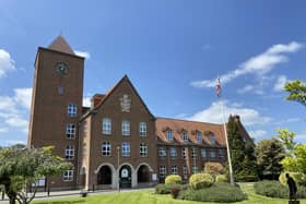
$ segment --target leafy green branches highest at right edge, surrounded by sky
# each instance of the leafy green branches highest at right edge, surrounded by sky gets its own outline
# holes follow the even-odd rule
[[[287,100],[297,101],[306,106],[306,85],[301,80],[295,80],[285,84],[285,92],[289,92]]]

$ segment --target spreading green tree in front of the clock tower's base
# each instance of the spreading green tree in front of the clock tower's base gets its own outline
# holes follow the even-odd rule
[[[71,168],[70,163],[52,154],[54,147],[0,151],[0,183],[5,185],[10,203],[30,203],[37,192],[36,182],[46,176],[56,176]],[[28,190],[32,189],[32,192]]]

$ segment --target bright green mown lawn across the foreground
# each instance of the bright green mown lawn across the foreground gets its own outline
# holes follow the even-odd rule
[[[248,194],[248,200],[237,202],[239,204],[287,204],[286,200],[270,199],[254,193],[252,187],[242,184],[244,192]],[[199,204],[200,202],[174,200],[170,195],[157,195],[154,191],[121,192],[104,195],[90,195],[87,197],[52,199],[49,201],[35,201],[35,204]],[[205,204],[216,204],[203,202]],[[306,204],[306,200],[301,201]]]

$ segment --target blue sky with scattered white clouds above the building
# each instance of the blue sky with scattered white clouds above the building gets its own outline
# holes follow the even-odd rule
[[[0,1],[0,145],[25,143],[37,47],[63,34],[86,56],[84,101],[128,74],[158,117],[221,122],[238,113],[258,142],[306,142],[305,107],[284,100],[306,76],[305,1]],[[81,52],[80,52],[81,51]]]

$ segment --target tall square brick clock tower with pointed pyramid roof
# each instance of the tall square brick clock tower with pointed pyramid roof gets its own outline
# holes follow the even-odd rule
[[[78,122],[82,116],[84,58],[76,56],[60,35],[39,47],[34,70],[28,146],[55,146],[55,154],[74,166],[46,183],[56,189],[75,188]]]

